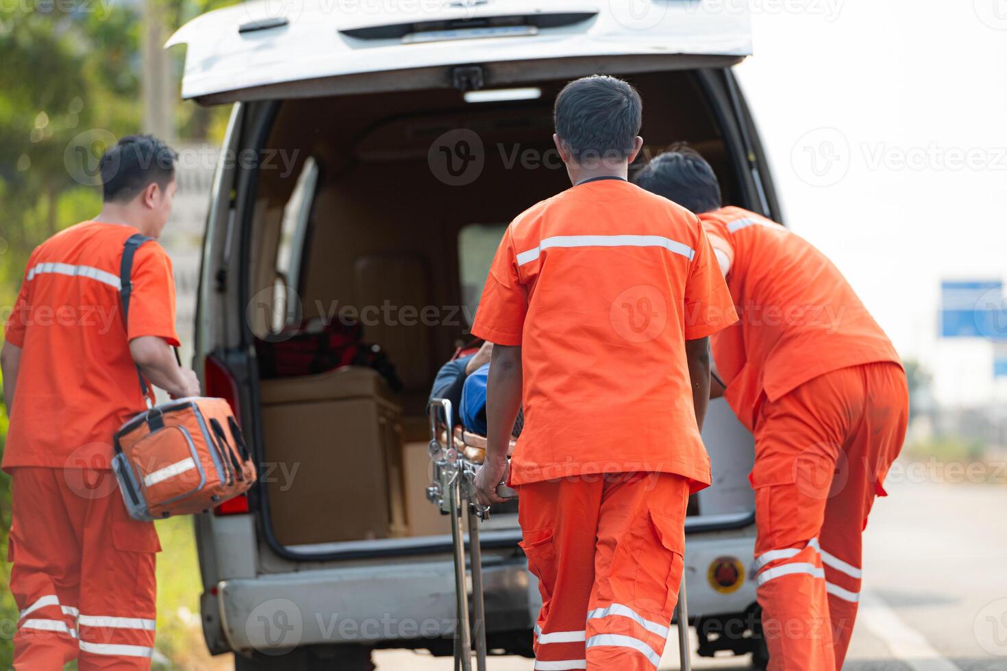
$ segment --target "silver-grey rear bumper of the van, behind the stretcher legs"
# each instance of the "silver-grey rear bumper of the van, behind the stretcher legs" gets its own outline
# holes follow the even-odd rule
[[[747,575],[753,543],[751,526],[690,534],[692,618],[742,613],[755,601]],[[718,591],[710,578],[710,567],[725,557],[743,567],[731,592]],[[541,600],[525,558],[487,552],[482,572],[487,630],[531,630]],[[217,600],[224,636],[236,651],[346,643],[397,647],[396,641],[418,647],[417,640],[455,631],[454,568],[443,556],[223,580]]]

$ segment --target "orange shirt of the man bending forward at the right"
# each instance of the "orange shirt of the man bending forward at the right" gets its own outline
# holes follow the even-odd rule
[[[775,400],[833,370],[901,360],[825,255],[780,224],[740,207],[700,214],[731,260],[727,286],[740,320],[711,339],[738,418],[754,430],[763,394]]]

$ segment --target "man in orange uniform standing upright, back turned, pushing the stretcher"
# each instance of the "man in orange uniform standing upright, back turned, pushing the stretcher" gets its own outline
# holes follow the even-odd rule
[[[656,669],[683,570],[689,493],[710,483],[700,439],[708,336],[736,320],[699,219],[626,181],[642,139],[625,81],[556,99],[573,187],[503,234],[472,333],[495,343],[478,497],[509,484],[539,579],[536,669]]]

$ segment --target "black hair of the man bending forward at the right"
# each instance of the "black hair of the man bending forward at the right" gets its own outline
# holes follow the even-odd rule
[[[633,183],[697,214],[720,207],[720,182],[700,153],[684,142],[643,166]]]

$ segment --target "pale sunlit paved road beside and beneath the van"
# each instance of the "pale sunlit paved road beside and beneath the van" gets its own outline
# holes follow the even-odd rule
[[[911,472],[908,471],[908,472]],[[1007,487],[888,483],[865,536],[864,594],[844,669],[1007,671]],[[662,669],[678,668],[673,631]],[[379,671],[449,671],[450,658],[375,654]],[[490,671],[530,671],[518,657]],[[748,669],[747,658],[696,669]]]

